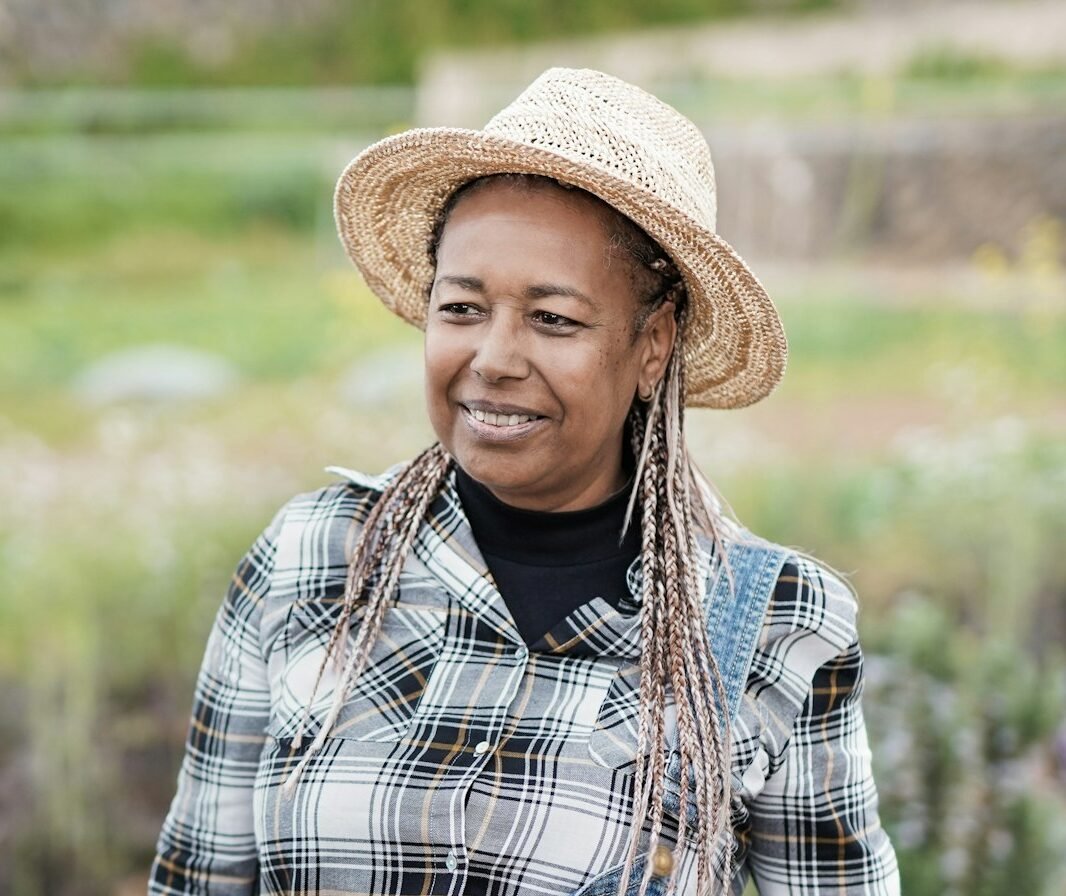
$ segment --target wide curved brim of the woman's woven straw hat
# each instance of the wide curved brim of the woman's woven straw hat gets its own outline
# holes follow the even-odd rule
[[[337,182],[334,213],[344,249],[395,314],[425,327],[434,222],[462,184],[503,173],[546,175],[586,190],[671,256],[691,303],[680,346],[687,405],[744,407],[774,390],[788,359],[785,330],[762,284],[728,243],[594,164],[484,131],[418,128],[386,137],[356,156]]]

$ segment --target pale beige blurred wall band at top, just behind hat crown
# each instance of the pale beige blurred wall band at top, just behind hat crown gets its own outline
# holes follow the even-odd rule
[[[884,74],[950,48],[1024,65],[1066,65],[1066,2],[865,3],[851,12],[744,19],[426,58],[420,125],[481,127],[553,65],[598,68],[653,93],[722,77]]]

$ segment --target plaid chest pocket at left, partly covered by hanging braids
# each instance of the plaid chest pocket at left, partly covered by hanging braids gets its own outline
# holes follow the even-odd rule
[[[330,737],[392,743],[402,740],[414,722],[443,645],[447,597],[433,583],[411,580],[401,582],[400,594],[400,601],[385,610],[369,661],[352,682]],[[339,597],[293,604],[284,647],[275,651],[276,662],[272,663],[269,733],[274,737],[295,735],[322,668],[339,607]],[[356,613],[361,618],[361,607]],[[353,622],[350,648],[359,624]],[[333,661],[322,672],[306,728],[309,737],[319,731],[333,705],[340,674]]]

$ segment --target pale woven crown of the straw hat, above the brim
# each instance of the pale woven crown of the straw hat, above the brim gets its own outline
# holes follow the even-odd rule
[[[610,75],[549,68],[484,131],[599,168],[716,229],[714,166],[699,129]]]

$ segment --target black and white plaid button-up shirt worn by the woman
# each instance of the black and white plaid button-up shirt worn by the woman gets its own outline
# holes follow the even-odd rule
[[[601,892],[588,884],[625,860],[633,822],[639,604],[594,598],[527,648],[454,476],[335,731],[282,796],[346,556],[383,485],[349,478],[293,499],[233,576],[149,892]],[[843,584],[790,556],[732,719],[733,893],[749,875],[764,896],[899,892],[877,817],[855,613]],[[335,684],[330,664],[305,748]],[[667,812],[663,841],[674,846],[676,834]],[[690,845],[677,892],[694,894],[695,876]]]

